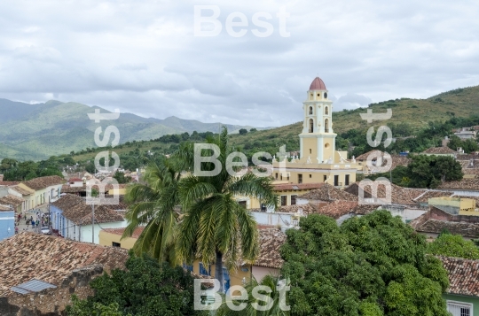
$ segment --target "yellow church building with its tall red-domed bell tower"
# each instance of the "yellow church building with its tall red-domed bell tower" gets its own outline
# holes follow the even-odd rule
[[[273,177],[290,183],[326,182],[344,188],[356,181],[356,161],[348,160],[347,151],[335,149],[333,102],[327,97],[325,83],[316,77],[302,103],[303,124],[300,157],[291,162],[286,157],[273,158]]]

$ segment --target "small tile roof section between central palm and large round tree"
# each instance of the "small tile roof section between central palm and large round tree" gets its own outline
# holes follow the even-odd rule
[[[281,268],[284,260],[281,258],[279,249],[286,243],[287,235],[278,228],[260,229],[259,233],[260,253],[254,266]]]

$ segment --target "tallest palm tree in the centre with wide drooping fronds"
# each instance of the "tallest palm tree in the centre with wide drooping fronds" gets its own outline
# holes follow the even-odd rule
[[[217,138],[207,143],[218,146],[217,160],[222,170],[214,176],[190,174],[179,184],[179,197],[184,217],[177,235],[177,256],[184,262],[201,258],[203,264],[216,264],[216,279],[224,291],[223,260],[229,270],[240,265],[240,258],[253,261],[258,254],[258,230],[255,218],[236,199],[238,196],[255,197],[264,204],[276,205],[271,178],[246,173],[234,176],[226,170],[226,158],[232,152],[228,145],[228,132],[224,128]],[[184,145],[177,153],[184,162],[183,170],[194,170],[192,144]],[[213,163],[206,170],[214,170]],[[209,168],[209,169],[208,169]]]

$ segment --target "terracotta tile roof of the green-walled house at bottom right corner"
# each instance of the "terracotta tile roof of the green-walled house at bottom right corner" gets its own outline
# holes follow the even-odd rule
[[[449,289],[446,293],[479,297],[479,260],[465,258],[438,258],[443,261],[444,269],[449,274]]]

